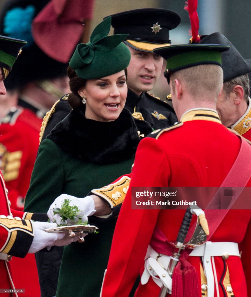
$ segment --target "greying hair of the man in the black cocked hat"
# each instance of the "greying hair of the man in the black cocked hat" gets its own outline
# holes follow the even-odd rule
[[[233,88],[237,85],[242,86],[244,90],[244,99],[248,103],[248,97],[249,97],[250,91],[249,91],[249,78],[247,74],[243,74],[229,81],[226,81],[223,84],[223,92],[225,93],[225,96],[229,97],[230,93],[233,91]]]

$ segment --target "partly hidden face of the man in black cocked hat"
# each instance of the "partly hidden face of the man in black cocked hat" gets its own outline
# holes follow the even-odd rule
[[[217,99],[216,110],[220,116],[220,120],[225,127],[231,127],[237,119],[235,118],[236,106],[234,104],[233,93],[229,96],[224,91],[221,92]]]

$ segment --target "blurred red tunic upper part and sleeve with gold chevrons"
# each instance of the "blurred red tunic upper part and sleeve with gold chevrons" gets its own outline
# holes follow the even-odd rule
[[[39,146],[40,129],[36,120],[31,110],[13,107],[0,124],[1,171],[11,207],[20,211],[23,211]]]

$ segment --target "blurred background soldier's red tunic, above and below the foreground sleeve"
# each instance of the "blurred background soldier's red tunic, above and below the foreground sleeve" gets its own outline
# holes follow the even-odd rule
[[[41,123],[42,120],[34,112],[22,107],[11,108],[1,119],[1,171],[12,209],[23,211],[39,146]],[[24,259],[12,257],[11,264],[15,286],[26,289],[22,296],[39,297],[40,285],[34,255],[28,254]],[[23,274],[23,267],[29,267],[29,274]]]

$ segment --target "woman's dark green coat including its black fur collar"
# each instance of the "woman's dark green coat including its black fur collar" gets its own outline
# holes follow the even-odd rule
[[[26,195],[26,211],[47,212],[61,194],[85,197],[92,189],[130,173],[140,138],[129,110],[124,109],[111,122],[86,119],[84,113],[83,107],[72,110],[42,141]],[[99,233],[65,247],[60,271],[57,247],[53,252],[37,253],[42,296],[100,296],[116,218],[94,221]]]

